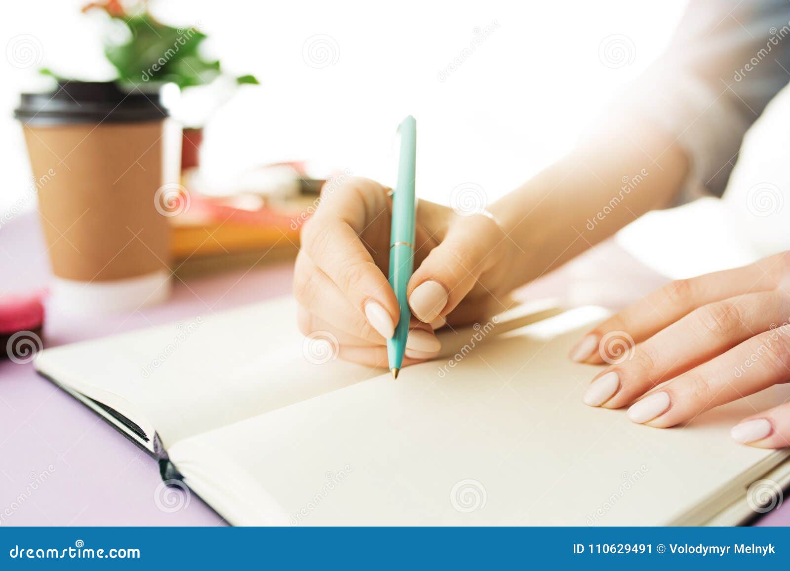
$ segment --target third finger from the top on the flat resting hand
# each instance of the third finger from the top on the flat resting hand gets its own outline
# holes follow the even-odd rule
[[[764,332],[649,393],[628,409],[635,423],[675,426],[790,379],[790,325]]]

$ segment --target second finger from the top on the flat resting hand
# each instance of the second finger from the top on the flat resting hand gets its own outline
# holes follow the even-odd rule
[[[778,321],[776,316],[787,315],[790,295],[781,290],[762,291],[702,306],[636,347],[608,334],[602,344],[622,344],[619,359],[596,375],[583,400],[593,407],[623,407],[661,382],[768,331]]]

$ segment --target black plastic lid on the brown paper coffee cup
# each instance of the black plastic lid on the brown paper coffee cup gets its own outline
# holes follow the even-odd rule
[[[58,81],[47,93],[22,93],[13,116],[25,125],[155,121],[167,117],[158,93],[123,92],[111,81]]]

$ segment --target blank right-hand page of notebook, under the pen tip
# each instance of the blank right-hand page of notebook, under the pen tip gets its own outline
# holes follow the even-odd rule
[[[728,433],[787,386],[670,430],[582,404],[600,369],[566,355],[600,317],[492,333],[443,374],[446,359],[383,374],[181,441],[171,460],[235,524],[617,525],[671,522],[777,458]]]

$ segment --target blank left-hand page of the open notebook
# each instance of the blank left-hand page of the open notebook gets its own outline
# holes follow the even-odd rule
[[[152,426],[166,446],[378,374],[317,365],[332,347],[305,340],[296,307],[276,299],[62,345],[36,369]]]

